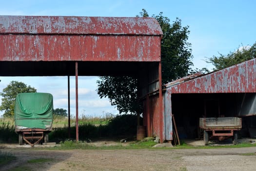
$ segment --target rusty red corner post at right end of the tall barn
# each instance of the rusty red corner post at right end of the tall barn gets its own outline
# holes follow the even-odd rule
[[[162,98],[162,65],[159,62],[158,66],[158,78],[159,78],[159,126],[160,126],[160,143],[163,143],[163,98]]]

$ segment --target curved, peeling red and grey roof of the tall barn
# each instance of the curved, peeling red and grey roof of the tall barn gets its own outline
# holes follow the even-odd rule
[[[162,35],[155,18],[0,16],[0,33]]]

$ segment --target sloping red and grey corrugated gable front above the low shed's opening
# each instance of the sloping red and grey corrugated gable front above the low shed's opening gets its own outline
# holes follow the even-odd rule
[[[256,59],[191,79],[166,84],[170,93],[249,93],[256,92]]]

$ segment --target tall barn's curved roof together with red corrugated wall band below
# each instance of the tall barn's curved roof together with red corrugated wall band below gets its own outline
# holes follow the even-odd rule
[[[160,61],[154,18],[0,16],[0,61]]]

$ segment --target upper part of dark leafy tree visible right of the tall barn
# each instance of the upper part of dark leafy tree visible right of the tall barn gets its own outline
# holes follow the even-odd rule
[[[166,84],[187,76],[190,66],[193,65],[191,43],[187,42],[190,31],[188,26],[181,26],[181,20],[178,18],[172,24],[167,17],[162,16],[162,13],[155,18],[163,31],[161,41],[162,82]]]

